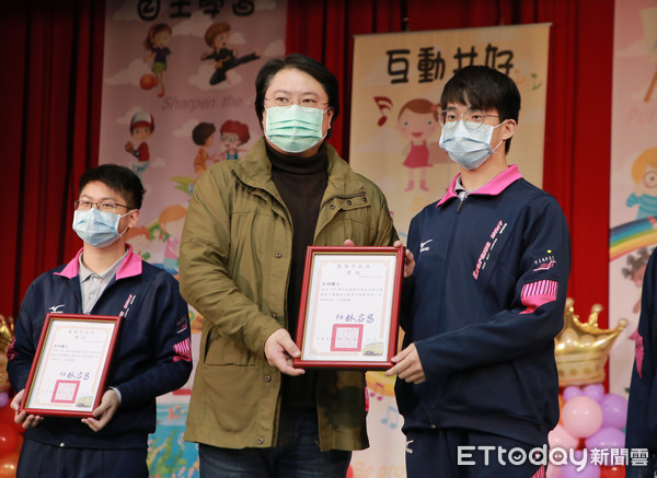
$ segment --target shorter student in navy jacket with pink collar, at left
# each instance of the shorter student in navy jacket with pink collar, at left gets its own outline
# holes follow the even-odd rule
[[[188,308],[177,281],[126,244],[143,198],[139,177],[104,164],[80,177],[79,193],[73,230],[83,247],[30,285],[7,352],[9,378],[19,390],[11,407],[26,429],[18,477],[147,478],[155,397],[180,388],[192,373]],[[48,313],[123,317],[107,390],[93,418],[19,412]]]

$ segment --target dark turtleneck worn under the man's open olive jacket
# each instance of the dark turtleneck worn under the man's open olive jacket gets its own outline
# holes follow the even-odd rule
[[[320,205],[328,183],[327,155],[324,145],[310,158],[280,153],[267,144],[272,162],[272,180],[283,197],[292,221],[292,257],[287,289],[287,328],[297,337],[299,305],[303,285],[306,248],[313,244]],[[315,374],[291,377],[283,375],[283,407],[315,407]]]

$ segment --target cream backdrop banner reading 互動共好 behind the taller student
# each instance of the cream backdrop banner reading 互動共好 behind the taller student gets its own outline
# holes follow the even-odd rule
[[[511,77],[522,107],[509,162],[542,185],[549,24],[362,35],[355,38],[349,162],[388,198],[402,238],[459,168],[438,147],[440,93],[469,65]],[[404,436],[394,381],[368,373],[372,446],[354,454],[355,477],[403,477]]]

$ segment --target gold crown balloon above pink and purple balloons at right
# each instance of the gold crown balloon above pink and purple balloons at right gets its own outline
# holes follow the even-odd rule
[[[558,370],[558,385],[596,384],[604,381],[604,363],[615,339],[627,326],[621,318],[615,328],[598,327],[602,305],[593,304],[588,322],[580,322],[570,298],[566,299],[564,328],[554,338],[554,357]]]

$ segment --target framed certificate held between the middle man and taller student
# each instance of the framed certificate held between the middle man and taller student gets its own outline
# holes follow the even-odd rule
[[[403,247],[308,247],[293,365],[390,369],[403,273]]]

